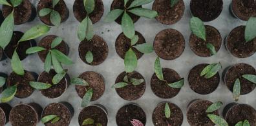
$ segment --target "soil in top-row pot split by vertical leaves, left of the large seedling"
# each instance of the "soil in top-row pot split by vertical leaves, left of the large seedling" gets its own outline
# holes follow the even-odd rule
[[[74,16],[78,21],[83,21],[87,16],[87,12],[85,10],[85,6],[83,5],[83,0],[75,0],[73,5]],[[102,15],[104,13],[104,5],[102,0],[95,0],[95,8],[92,13],[89,14],[89,17],[92,23],[96,23],[100,21]]]

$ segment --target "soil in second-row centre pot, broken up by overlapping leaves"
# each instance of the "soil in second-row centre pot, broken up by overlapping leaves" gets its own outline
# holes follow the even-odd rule
[[[138,42],[134,46],[136,46],[137,44],[144,44],[145,43],[145,38],[142,36],[141,33],[139,33],[138,31],[135,31],[135,35],[138,35],[139,39],[138,39]],[[130,48],[133,49],[133,51],[136,54],[136,57],[138,59],[141,58],[142,55],[144,55],[144,53],[141,53],[136,48],[131,46],[131,39],[125,37],[125,35],[123,33],[120,33],[120,35],[118,35],[118,37],[116,39],[115,46],[116,46],[116,53],[118,53],[119,57],[121,57],[123,59],[125,58],[125,53]]]

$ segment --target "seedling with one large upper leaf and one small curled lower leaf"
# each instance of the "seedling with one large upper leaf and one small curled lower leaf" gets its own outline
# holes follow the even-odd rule
[[[190,29],[194,35],[206,42],[206,28],[201,19],[198,17],[192,17],[190,19]],[[206,48],[209,49],[211,55],[215,55],[217,53],[213,44],[209,42],[206,44]]]

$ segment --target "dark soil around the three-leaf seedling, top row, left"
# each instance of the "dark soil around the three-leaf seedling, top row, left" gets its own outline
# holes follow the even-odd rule
[[[50,22],[50,13],[43,17],[39,16],[39,12],[43,8],[50,8],[55,10],[56,12],[59,12],[59,15],[61,16],[61,22],[64,22],[69,18],[69,9],[67,8],[65,1],[63,0],[60,0],[59,3],[54,6],[54,8],[52,8],[52,0],[40,0],[37,4],[37,15],[39,19],[43,23],[53,26],[52,22]]]

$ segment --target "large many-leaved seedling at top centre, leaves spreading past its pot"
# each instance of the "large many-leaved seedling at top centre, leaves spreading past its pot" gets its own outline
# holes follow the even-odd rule
[[[129,39],[133,39],[135,35],[134,30],[134,23],[133,19],[131,19],[131,16],[129,13],[133,13],[135,15],[138,15],[140,17],[146,17],[149,19],[153,19],[156,17],[157,12],[154,10],[149,10],[145,8],[141,8],[138,6],[151,3],[153,0],[135,0],[131,3],[130,6],[127,6],[129,0],[124,0],[124,9],[114,9],[111,12],[107,14],[105,17],[105,22],[112,22],[116,20],[120,15],[122,15],[122,30],[125,36]]]

